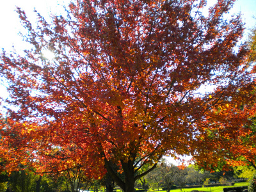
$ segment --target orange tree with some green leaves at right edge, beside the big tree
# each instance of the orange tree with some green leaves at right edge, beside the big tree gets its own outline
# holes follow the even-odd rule
[[[201,134],[202,143],[207,146],[203,150],[212,160],[204,163],[198,156],[198,164],[204,168],[220,171],[222,168],[227,170],[230,165],[250,165],[256,169],[255,36],[255,29],[252,29],[247,45],[248,54],[243,63],[243,66],[247,67],[244,69],[246,73],[252,76],[252,79],[248,80],[251,83],[243,82],[243,86],[237,89],[232,97],[225,97],[220,105],[208,111],[205,119],[196,125],[205,127],[205,132],[208,134],[207,136]],[[236,130],[237,125],[241,134]],[[220,145],[215,145],[216,142]],[[196,160],[196,156],[194,157]]]

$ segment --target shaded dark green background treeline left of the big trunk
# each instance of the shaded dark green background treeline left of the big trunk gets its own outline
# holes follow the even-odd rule
[[[0,192],[78,192],[98,191],[104,179],[86,177],[80,168],[62,173],[38,175],[29,171],[1,173]]]

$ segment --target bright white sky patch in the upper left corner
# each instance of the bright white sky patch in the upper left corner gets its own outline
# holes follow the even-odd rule
[[[63,10],[62,5],[68,4],[68,1],[56,0],[0,0],[0,48],[11,50],[12,45],[17,50],[24,49],[24,42],[19,32],[23,30],[16,6],[22,8],[31,22],[35,22],[36,15],[34,9],[49,19],[49,15],[60,13]],[[25,47],[26,48],[26,47]]]

